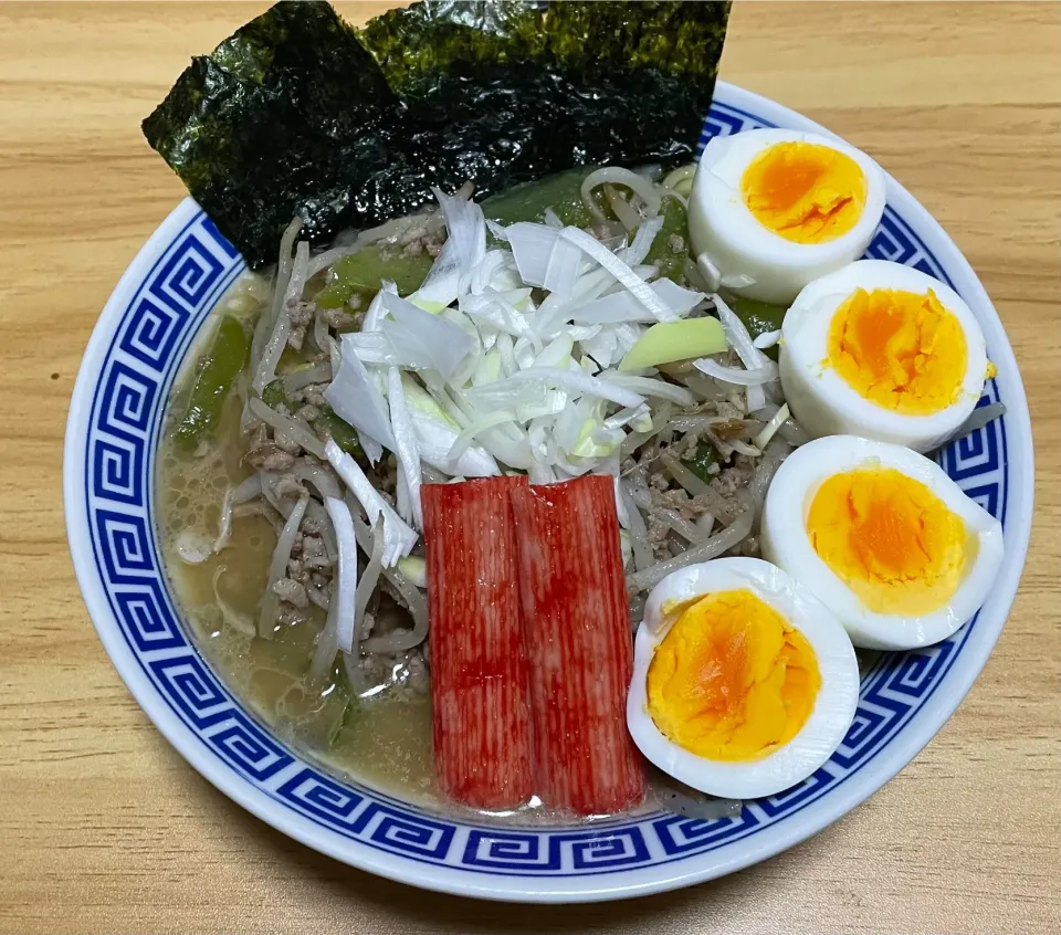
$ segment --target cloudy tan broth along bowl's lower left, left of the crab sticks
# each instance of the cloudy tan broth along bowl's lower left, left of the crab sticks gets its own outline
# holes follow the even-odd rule
[[[230,300],[234,301],[234,300]],[[207,326],[209,327],[209,325]],[[193,374],[186,367],[170,411],[180,412]],[[397,681],[377,695],[353,698],[342,666],[324,686],[309,687],[306,673],[325,612],[315,606],[285,619],[273,639],[256,634],[276,532],[261,511],[237,511],[231,537],[220,551],[192,564],[188,544],[212,543],[219,533],[225,491],[253,471],[243,464],[242,400],[224,403],[214,439],[189,456],[165,433],[156,477],[162,555],[175,595],[197,643],[230,690],[279,736],[340,776],[418,801],[431,800],[431,704],[424,673],[411,685],[400,660]]]

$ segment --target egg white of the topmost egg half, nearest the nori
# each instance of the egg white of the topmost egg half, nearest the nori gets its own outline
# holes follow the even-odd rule
[[[759,154],[779,143],[828,146],[859,164],[866,199],[850,231],[826,243],[794,243],[752,213],[740,190],[744,172]],[[745,130],[716,136],[704,148],[689,197],[689,231],[694,252],[717,271],[722,285],[749,298],[787,305],[807,283],[865,252],[884,213],[885,198],[884,171],[853,146],[813,133]]]

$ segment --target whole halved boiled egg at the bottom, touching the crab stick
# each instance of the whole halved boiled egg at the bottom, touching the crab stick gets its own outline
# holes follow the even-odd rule
[[[851,640],[813,595],[761,559],[719,558],[649,595],[627,725],[641,753],[686,786],[755,798],[821,766],[858,695]]]

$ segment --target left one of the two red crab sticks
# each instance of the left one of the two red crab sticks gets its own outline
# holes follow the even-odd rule
[[[489,477],[421,492],[435,775],[444,792],[476,808],[518,805],[533,791],[510,500],[526,483]]]

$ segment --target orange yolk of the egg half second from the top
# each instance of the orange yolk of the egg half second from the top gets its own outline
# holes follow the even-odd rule
[[[885,409],[927,416],[962,396],[965,333],[932,290],[855,290],[832,316],[828,344],[833,369]]]

